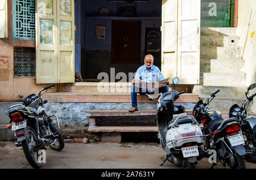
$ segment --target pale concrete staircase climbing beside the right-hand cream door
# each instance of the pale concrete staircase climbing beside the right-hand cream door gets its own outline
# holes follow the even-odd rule
[[[192,92],[205,101],[220,89],[209,108],[228,113],[233,104],[246,100],[241,53],[237,28],[201,28],[200,85]]]

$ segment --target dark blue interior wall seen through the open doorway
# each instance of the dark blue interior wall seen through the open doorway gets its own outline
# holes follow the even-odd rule
[[[109,16],[100,16],[101,7],[108,7]],[[121,6],[136,6],[136,17],[118,16]],[[147,3],[115,3],[107,0],[84,1],[81,3],[81,73],[82,78],[97,78],[100,72],[135,72],[143,64],[146,27],[160,27],[162,1]],[[84,11],[86,9],[86,11]],[[141,64],[112,64],[112,20],[141,20]],[[96,26],[105,25],[105,39],[96,38]],[[160,62],[155,64],[160,65]],[[160,67],[159,67],[160,68]]]

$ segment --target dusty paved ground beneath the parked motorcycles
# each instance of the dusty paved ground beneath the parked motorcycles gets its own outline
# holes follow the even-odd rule
[[[15,147],[13,142],[0,142],[0,169],[31,169],[20,149],[22,147]],[[164,166],[159,166],[164,152],[160,144],[155,143],[65,143],[63,151],[47,148],[46,153],[43,169],[176,169],[168,161]],[[203,158],[196,168],[208,169],[210,166],[208,159]],[[215,167],[222,168],[220,163]],[[256,169],[256,164],[246,162],[246,168]]]

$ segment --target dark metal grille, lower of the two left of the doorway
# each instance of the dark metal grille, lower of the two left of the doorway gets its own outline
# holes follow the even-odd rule
[[[14,48],[14,77],[34,77],[35,48]]]

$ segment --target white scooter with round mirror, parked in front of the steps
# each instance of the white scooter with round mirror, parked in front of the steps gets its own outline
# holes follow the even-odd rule
[[[203,133],[199,123],[192,115],[185,113],[182,105],[175,105],[174,101],[185,91],[177,93],[173,90],[179,78],[172,80],[172,91],[163,93],[158,101],[146,94],[149,100],[157,102],[156,121],[160,144],[166,157],[163,160],[172,162],[177,167],[183,166],[195,169],[198,160],[204,157]]]

